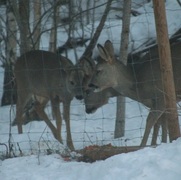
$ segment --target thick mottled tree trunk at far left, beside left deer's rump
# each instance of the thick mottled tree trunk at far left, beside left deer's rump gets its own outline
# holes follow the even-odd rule
[[[7,40],[6,40],[6,61],[4,62],[4,86],[1,105],[16,103],[16,90],[13,82],[13,62],[16,59],[17,49],[17,24],[13,13],[11,1],[7,1]]]

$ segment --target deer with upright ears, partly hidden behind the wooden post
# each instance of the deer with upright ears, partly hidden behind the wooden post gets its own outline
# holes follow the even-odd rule
[[[104,46],[97,45],[99,55],[103,61],[98,62],[95,72],[89,83],[94,92],[101,92],[113,88],[120,95],[138,101],[148,108],[150,112],[147,117],[144,136],[140,144],[146,146],[151,128],[159,124],[165,115],[163,106],[163,85],[160,73],[158,49],[153,55],[144,55],[138,63],[130,63],[125,66],[114,55],[113,44],[107,40]],[[181,78],[180,78],[180,50],[181,42],[171,45],[172,64],[177,101],[180,101]],[[158,127],[157,129],[158,131]],[[154,140],[155,141],[155,140]]]

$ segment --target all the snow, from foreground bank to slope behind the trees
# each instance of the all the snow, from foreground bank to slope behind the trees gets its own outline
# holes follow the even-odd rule
[[[169,35],[181,27],[181,8],[176,1],[166,2]],[[132,17],[130,49],[138,48],[146,39],[155,39],[152,4],[139,8],[143,13]],[[149,22],[149,23],[148,23]],[[116,52],[119,51],[121,22],[107,21],[99,43],[110,39]],[[112,27],[112,28],[110,28]],[[87,33],[88,34],[88,33]],[[47,34],[46,34],[47,36]],[[66,36],[63,36],[66,40]],[[63,40],[62,40],[63,41]],[[47,44],[44,37],[42,44]],[[80,50],[80,55],[83,50]],[[96,54],[96,49],[95,52]],[[72,52],[70,52],[72,56]],[[2,96],[3,69],[0,68],[0,95]],[[94,114],[85,113],[84,103],[73,100],[71,105],[71,131],[76,149],[89,145],[114,146],[139,145],[148,110],[138,102],[126,99],[126,130],[123,138],[114,139],[116,99],[98,109]],[[46,108],[51,117],[51,108]],[[77,162],[74,154],[66,149],[65,123],[62,127],[64,145],[52,136],[44,122],[36,121],[24,125],[23,134],[18,134],[17,127],[9,126],[15,117],[15,106],[0,107],[0,143],[8,145],[10,140],[16,158],[0,160],[0,179],[3,180],[180,180],[181,178],[181,138],[172,143],[160,144],[156,148],[147,147],[139,151],[112,156],[94,163]],[[54,121],[53,121],[54,122]],[[181,123],[181,119],[180,119]],[[150,135],[151,138],[151,135]],[[150,138],[149,142],[150,143]],[[17,144],[18,143],[18,144]],[[21,151],[20,151],[21,150]],[[52,154],[47,155],[48,151]],[[0,145],[0,156],[6,148]],[[60,154],[70,153],[67,161]],[[12,154],[13,156],[13,154]],[[22,156],[22,157],[21,157]]]

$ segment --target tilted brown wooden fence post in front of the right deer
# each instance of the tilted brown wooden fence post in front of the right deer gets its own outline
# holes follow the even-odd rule
[[[180,136],[172,60],[164,0],[153,0],[160,66],[164,88],[164,100],[170,141]]]

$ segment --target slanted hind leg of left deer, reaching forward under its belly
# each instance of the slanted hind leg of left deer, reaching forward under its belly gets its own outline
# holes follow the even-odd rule
[[[48,116],[46,115],[45,111],[44,111],[44,105],[40,104],[39,102],[35,103],[35,109],[37,114],[46,122],[47,126],[50,128],[50,130],[52,131],[55,139],[57,139],[60,143],[62,143],[61,139],[57,138],[57,129],[56,127],[51,123],[50,119],[48,118]]]

